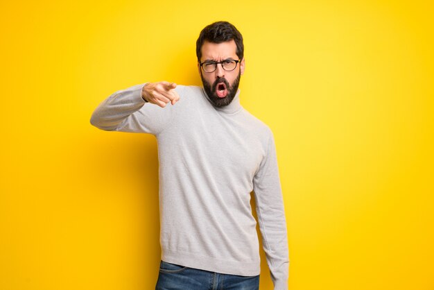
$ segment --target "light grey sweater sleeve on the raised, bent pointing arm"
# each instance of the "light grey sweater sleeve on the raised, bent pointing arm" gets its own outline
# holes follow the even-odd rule
[[[111,94],[94,110],[90,123],[102,130],[132,133],[161,133],[173,119],[173,106],[168,103],[162,108],[147,103],[141,97],[146,85],[134,85]],[[180,86],[175,90],[180,92]]]

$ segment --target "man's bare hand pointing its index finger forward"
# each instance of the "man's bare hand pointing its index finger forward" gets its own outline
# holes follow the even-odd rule
[[[175,83],[169,83],[166,81],[158,83],[146,83],[143,89],[141,89],[141,97],[155,105],[159,105],[164,108],[170,102],[175,105],[180,99],[180,95],[175,92]]]

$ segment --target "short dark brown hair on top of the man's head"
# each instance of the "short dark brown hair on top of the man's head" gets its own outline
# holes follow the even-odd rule
[[[236,55],[240,60],[243,59],[243,35],[241,35],[238,29],[229,22],[214,22],[200,31],[199,38],[196,41],[196,56],[198,56],[198,62],[200,62],[200,58],[202,58],[202,45],[205,40],[213,43],[222,43],[234,40],[236,44]]]

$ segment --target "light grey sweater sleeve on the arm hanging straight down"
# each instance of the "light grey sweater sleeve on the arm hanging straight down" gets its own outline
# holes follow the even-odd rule
[[[275,290],[288,289],[288,237],[275,142],[270,131],[268,153],[253,178],[254,198],[263,250]]]

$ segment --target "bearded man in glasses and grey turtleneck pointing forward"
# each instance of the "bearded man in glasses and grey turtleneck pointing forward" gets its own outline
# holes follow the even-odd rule
[[[150,133],[159,155],[156,289],[259,289],[259,228],[272,282],[288,289],[288,241],[275,142],[244,110],[243,37],[228,22],[196,42],[203,87],[159,82],[114,92],[92,114],[103,130]]]

